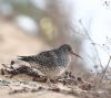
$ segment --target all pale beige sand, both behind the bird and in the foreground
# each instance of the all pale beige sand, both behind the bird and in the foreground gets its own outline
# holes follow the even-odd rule
[[[0,19],[0,68],[2,63],[10,63],[11,59],[17,58],[17,55],[32,55],[47,50],[46,43],[36,36],[27,35],[21,30],[19,30],[13,23]],[[3,85],[10,83],[10,85]],[[38,87],[46,86],[46,84],[40,84],[32,81],[32,78],[26,75],[16,76],[9,78],[6,76],[0,76],[0,98],[77,98],[71,95],[64,95],[53,91],[39,91],[39,92],[21,92],[16,95],[9,95],[12,89],[18,89],[21,87]],[[31,85],[19,84],[19,81],[28,81]]]

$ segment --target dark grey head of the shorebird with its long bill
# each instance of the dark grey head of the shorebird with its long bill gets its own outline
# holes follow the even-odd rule
[[[75,54],[75,53],[73,52],[71,45],[69,45],[69,44],[63,44],[63,45],[61,45],[61,46],[59,47],[59,50],[61,50],[61,51],[64,52],[64,53],[72,54],[72,55],[78,56],[78,57],[81,58],[80,55],[78,55],[78,54]]]

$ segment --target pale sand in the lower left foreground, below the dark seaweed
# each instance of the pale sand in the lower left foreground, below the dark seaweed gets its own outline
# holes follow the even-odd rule
[[[6,80],[4,78],[2,78],[2,79]],[[0,78],[0,80],[1,80],[1,78]],[[64,94],[54,92],[54,91],[47,91],[47,90],[42,90],[42,91],[38,91],[38,92],[19,92],[19,94],[10,95],[9,92],[11,90],[14,90],[14,89],[21,89],[23,87],[31,89],[31,88],[38,88],[41,85],[46,86],[44,84],[31,81],[31,80],[23,79],[23,78],[21,81],[27,80],[28,84],[27,85],[24,85],[24,84],[19,85],[19,80],[17,78],[11,79],[11,80],[9,80],[7,78],[7,81],[10,81],[11,84],[10,84],[10,86],[1,86],[0,87],[0,89],[1,89],[0,96],[2,96],[2,98],[58,98],[58,97],[60,97],[60,98],[77,98],[77,97],[73,97],[71,95],[64,95]]]

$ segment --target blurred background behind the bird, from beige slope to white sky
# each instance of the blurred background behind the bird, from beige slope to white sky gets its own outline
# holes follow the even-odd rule
[[[110,31],[110,0],[0,0],[0,64],[67,43],[83,57],[72,57],[71,72],[98,72],[111,55]]]

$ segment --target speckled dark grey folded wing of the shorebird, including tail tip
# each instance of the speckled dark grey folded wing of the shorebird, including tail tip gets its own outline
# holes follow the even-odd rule
[[[42,66],[54,65],[56,58],[58,58],[58,55],[53,51],[41,52],[40,54],[32,55],[32,56],[19,56],[18,57],[18,59],[21,59],[24,62],[37,63]]]

